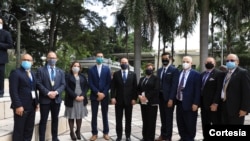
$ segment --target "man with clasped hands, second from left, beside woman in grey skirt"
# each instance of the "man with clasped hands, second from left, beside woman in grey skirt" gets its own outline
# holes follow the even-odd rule
[[[45,141],[45,131],[49,112],[51,111],[51,134],[52,141],[58,139],[58,115],[62,102],[62,92],[66,86],[65,74],[60,68],[56,67],[57,55],[49,52],[47,63],[44,67],[37,70],[37,87],[39,89],[40,102],[40,123],[39,141]]]

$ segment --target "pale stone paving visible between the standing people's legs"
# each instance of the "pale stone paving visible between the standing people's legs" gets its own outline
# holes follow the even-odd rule
[[[90,105],[87,106],[89,114],[88,116],[83,119],[82,123],[82,128],[81,128],[81,135],[83,137],[83,141],[87,141],[90,139],[92,136],[91,133],[91,109]],[[110,132],[109,136],[111,137],[110,141],[115,141],[116,140],[116,132],[115,132],[115,112],[114,112],[114,106],[110,105],[109,106],[109,127],[110,127]],[[159,136],[160,134],[160,115],[158,111],[158,116],[157,116],[157,123],[156,123],[156,137]],[[124,125],[124,124],[123,124]],[[101,116],[101,110],[99,107],[99,113],[98,113],[98,139],[97,141],[106,141],[103,139],[103,133],[102,133],[102,116]],[[132,141],[139,141],[142,138],[142,120],[141,120],[141,111],[140,111],[140,105],[136,104],[133,108],[133,115],[132,115],[132,133],[131,133],[131,140]],[[173,141],[178,141],[179,140],[179,135],[178,135],[178,129],[176,126],[176,120],[174,117],[174,127],[173,127]],[[59,136],[60,141],[69,141],[70,135],[69,131],[65,132],[64,134],[61,134]],[[123,139],[125,140],[125,135],[123,134]],[[200,121],[200,116],[198,117],[198,122],[197,122],[197,133],[196,133],[196,138],[197,141],[202,140],[202,131],[201,131],[201,121]]]

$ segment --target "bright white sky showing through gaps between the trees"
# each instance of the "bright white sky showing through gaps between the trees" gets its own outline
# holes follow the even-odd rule
[[[117,1],[115,1],[117,2]],[[92,11],[95,11],[99,13],[101,17],[106,17],[104,20],[108,27],[114,25],[114,17],[111,15],[112,12],[115,12],[117,10],[116,6],[108,6],[103,7],[101,3],[95,2],[95,5],[89,5],[85,4],[85,8],[90,9]],[[187,48],[188,49],[194,49],[199,50],[200,46],[200,24],[197,22],[195,26],[195,30],[192,34],[188,35],[187,40]],[[153,41],[153,48],[154,50],[158,50],[158,38],[157,38],[158,32],[155,33],[154,41]],[[169,48],[167,50],[170,50],[171,44],[168,45]],[[161,49],[163,48],[163,45],[161,44]],[[175,43],[174,43],[175,50],[185,50],[185,38],[176,37]]]

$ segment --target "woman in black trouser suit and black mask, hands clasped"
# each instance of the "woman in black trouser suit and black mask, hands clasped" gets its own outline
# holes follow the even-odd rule
[[[154,141],[157,110],[159,104],[159,80],[153,74],[154,65],[148,63],[145,76],[140,78],[138,84],[138,98],[141,104],[142,115],[142,141]]]

